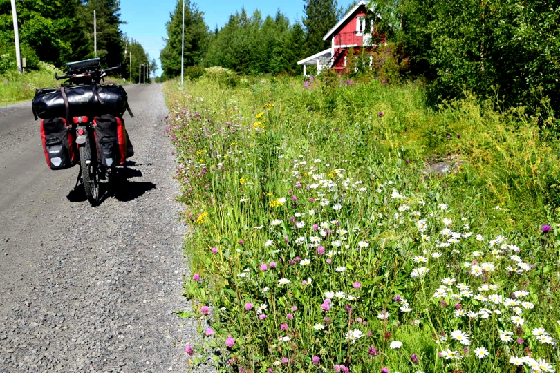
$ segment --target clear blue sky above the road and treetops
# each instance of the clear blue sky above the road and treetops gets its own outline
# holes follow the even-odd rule
[[[151,58],[159,64],[160,50],[165,45],[163,37],[166,36],[165,23],[169,20],[169,12],[175,8],[177,0],[121,0],[121,17],[128,22],[121,29],[129,37],[136,39],[144,46]],[[204,19],[211,30],[216,24],[221,28],[236,10],[245,6],[249,13],[255,9],[261,10],[265,15],[274,15],[277,9],[290,18],[291,21],[301,19],[304,15],[303,0],[199,0],[194,1],[200,10],[205,12]],[[339,0],[339,5],[344,8],[351,0]],[[160,75],[161,70],[156,73]]]

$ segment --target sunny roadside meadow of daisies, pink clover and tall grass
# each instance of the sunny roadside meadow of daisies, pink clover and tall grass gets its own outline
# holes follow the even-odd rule
[[[165,86],[193,370],[558,372],[552,119],[427,108],[415,84],[221,76]],[[460,162],[427,173],[438,160]]]

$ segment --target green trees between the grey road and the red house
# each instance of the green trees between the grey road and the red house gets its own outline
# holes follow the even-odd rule
[[[165,78],[180,75],[183,0],[167,22],[167,43],[160,60]],[[304,0],[304,19],[290,22],[280,10],[263,17],[245,8],[223,28],[210,30],[196,3],[185,0],[185,67],[222,66],[242,74],[298,73],[297,61],[330,46],[323,36],[344,11],[336,0]]]

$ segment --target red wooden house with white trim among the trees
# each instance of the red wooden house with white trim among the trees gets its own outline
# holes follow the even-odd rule
[[[366,20],[369,15],[371,12],[364,0],[346,13],[323,37],[323,40],[330,40],[330,48],[297,62],[298,65],[304,66],[304,76],[306,66],[317,66],[317,74],[324,68],[333,68],[338,73],[343,73],[346,70],[346,59],[350,48],[361,50],[375,47],[372,42],[373,19],[369,22]],[[370,61],[372,61],[371,57]]]

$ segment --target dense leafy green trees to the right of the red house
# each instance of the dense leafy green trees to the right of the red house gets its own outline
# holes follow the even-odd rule
[[[496,91],[532,112],[548,97],[560,109],[560,8],[542,0],[376,0],[377,26],[411,56],[434,104],[464,90]]]

